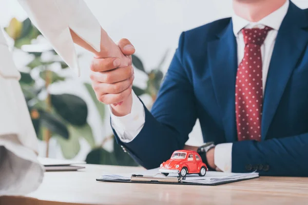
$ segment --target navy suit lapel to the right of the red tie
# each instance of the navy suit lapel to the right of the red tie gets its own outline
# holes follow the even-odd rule
[[[262,116],[262,139],[264,140],[273,120],[284,89],[297,62],[306,48],[308,33],[304,11],[292,2],[278,31],[275,47],[269,65]]]

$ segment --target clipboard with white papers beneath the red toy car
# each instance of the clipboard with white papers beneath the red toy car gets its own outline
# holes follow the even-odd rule
[[[158,168],[136,173],[127,174],[104,174],[97,181],[108,182],[129,182],[129,183],[162,183],[174,185],[222,185],[259,177],[259,173],[224,173],[224,172],[206,172],[201,177],[198,174],[187,175],[185,179],[174,180],[179,178],[177,174],[169,174],[167,177],[159,174]]]

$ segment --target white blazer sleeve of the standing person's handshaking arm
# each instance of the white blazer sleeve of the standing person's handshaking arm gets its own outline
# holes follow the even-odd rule
[[[101,26],[83,0],[18,0],[65,63],[80,75],[69,29],[100,51]]]

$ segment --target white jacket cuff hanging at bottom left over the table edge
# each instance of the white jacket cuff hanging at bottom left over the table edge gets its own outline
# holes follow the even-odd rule
[[[24,195],[41,185],[44,167],[16,135],[0,135],[0,196]]]

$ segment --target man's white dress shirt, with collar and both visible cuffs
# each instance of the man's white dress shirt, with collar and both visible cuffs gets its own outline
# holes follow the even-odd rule
[[[287,0],[282,7],[265,16],[259,20],[259,22],[249,22],[236,14],[233,14],[232,16],[233,31],[237,40],[238,65],[240,65],[243,59],[245,47],[241,30],[243,28],[264,28],[265,26],[273,28],[273,30],[268,32],[264,44],[261,46],[263,88],[265,88],[268,67],[274,50],[277,33],[282,20],[287,13],[289,4],[290,3]],[[123,142],[133,140],[134,137],[139,134],[145,123],[145,112],[141,101],[134,93],[132,100],[130,114],[118,117],[113,115],[111,112],[111,124]],[[224,172],[232,171],[232,145],[232,143],[225,143],[217,145],[215,148],[215,165]]]

